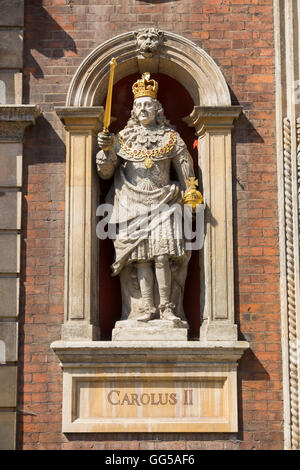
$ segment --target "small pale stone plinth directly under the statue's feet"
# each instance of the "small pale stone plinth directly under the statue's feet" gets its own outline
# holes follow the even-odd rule
[[[113,341],[187,341],[188,324],[185,321],[121,320],[112,331]]]

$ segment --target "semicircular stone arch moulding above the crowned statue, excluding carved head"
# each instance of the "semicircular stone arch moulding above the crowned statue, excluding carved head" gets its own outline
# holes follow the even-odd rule
[[[98,46],[74,75],[66,106],[97,106],[103,102],[112,57],[118,62],[115,81],[135,72],[159,72],[182,83],[195,106],[230,106],[228,86],[214,60],[178,34],[163,32],[163,35],[163,46],[151,59],[139,57],[134,32],[120,34]]]

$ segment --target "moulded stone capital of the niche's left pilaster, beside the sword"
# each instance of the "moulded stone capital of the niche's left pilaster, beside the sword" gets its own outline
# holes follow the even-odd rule
[[[67,131],[96,132],[102,126],[103,106],[62,106],[54,109]]]

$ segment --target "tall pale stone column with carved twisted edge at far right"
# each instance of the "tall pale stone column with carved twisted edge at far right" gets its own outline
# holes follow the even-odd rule
[[[274,0],[285,449],[300,449],[300,5]]]

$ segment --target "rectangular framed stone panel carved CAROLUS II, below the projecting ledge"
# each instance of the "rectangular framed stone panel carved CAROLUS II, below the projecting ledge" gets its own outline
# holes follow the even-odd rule
[[[232,431],[228,375],[200,373],[187,380],[155,375],[75,379],[73,430]]]

